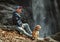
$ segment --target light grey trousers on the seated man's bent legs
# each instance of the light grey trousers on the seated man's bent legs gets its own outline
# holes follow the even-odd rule
[[[23,23],[22,27],[17,26],[16,30],[18,30],[26,36],[32,37],[32,31],[27,23]]]

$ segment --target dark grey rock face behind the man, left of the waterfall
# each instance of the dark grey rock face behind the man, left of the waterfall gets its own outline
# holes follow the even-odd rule
[[[12,13],[15,11],[17,5],[23,6],[22,21],[30,24],[33,27],[33,14],[31,8],[31,1],[28,0],[0,0],[0,23],[5,25],[12,25]]]

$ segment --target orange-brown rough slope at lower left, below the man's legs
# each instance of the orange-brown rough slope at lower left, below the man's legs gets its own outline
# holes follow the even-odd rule
[[[16,31],[0,29],[0,42],[32,42],[32,40],[22,34],[18,34]]]

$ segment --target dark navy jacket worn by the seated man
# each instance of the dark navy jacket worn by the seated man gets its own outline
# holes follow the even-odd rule
[[[19,27],[22,26],[21,16],[17,12],[13,12],[13,24]]]

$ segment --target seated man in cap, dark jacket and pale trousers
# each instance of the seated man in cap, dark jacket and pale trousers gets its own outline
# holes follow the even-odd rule
[[[27,23],[22,23],[21,21],[22,6],[17,6],[16,11],[13,12],[13,24],[16,25],[16,30],[22,32],[23,34],[32,37],[32,31]]]

